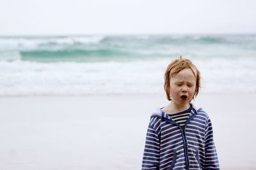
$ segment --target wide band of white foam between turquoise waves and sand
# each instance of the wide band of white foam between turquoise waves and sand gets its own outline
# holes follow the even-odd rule
[[[256,92],[256,60],[194,60],[202,92]],[[0,95],[162,94],[169,60],[133,62],[0,61]]]

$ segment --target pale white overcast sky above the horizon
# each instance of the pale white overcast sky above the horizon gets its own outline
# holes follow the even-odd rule
[[[0,0],[0,35],[252,34],[254,0]]]

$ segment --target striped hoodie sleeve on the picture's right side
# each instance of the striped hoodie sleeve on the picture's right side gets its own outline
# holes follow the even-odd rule
[[[213,140],[213,131],[210,118],[207,120],[205,127],[205,162],[204,169],[220,169],[220,164],[218,160],[218,155],[216,152],[214,140]]]

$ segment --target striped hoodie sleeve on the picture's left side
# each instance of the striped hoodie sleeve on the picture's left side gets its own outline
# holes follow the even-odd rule
[[[142,170],[150,169],[150,170],[157,170],[159,169],[159,137],[157,135],[156,125],[152,125],[152,120],[148,125],[146,142],[145,142],[145,149],[143,153],[143,161],[142,161]]]

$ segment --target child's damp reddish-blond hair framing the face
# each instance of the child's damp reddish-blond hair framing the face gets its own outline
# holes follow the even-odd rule
[[[196,77],[196,89],[195,94],[193,96],[193,99],[198,95],[198,92],[200,90],[200,72],[196,68],[196,66],[191,62],[189,59],[182,59],[180,56],[179,59],[175,59],[166,68],[166,71],[164,73],[164,90],[166,92],[166,97],[169,101],[171,101],[170,97],[170,79],[175,74],[179,73],[183,69],[191,69],[193,74]]]

